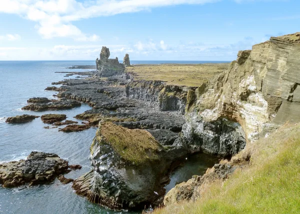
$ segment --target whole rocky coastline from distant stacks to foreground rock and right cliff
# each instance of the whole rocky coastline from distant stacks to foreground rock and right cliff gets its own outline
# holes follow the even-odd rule
[[[58,100],[32,98],[24,109],[71,108],[80,102],[92,107],[75,116],[83,125],[65,121],[60,129],[98,127],[90,146],[92,169],[72,185],[88,200],[129,210],[194,200],[202,185],[225,179],[247,161],[215,164],[164,196],[180,159],[197,152],[230,159],[284,122],[300,121],[299,41],[295,33],[239,51],[227,69],[197,86],[135,79],[134,69],[127,69],[128,54],[119,63],[102,47],[93,77],[52,82],[62,84],[47,87],[58,91]]]

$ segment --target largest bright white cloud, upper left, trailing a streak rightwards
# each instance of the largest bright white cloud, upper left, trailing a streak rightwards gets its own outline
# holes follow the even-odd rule
[[[1,3],[0,12],[36,21],[37,31],[43,38],[71,37],[79,41],[97,41],[97,35],[87,35],[71,22],[161,6],[215,1],[218,0],[5,0]]]

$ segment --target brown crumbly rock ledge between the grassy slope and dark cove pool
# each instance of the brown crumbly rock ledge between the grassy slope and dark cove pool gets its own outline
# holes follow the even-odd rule
[[[202,176],[193,175],[193,177],[186,182],[177,184],[174,188],[166,193],[163,199],[163,204],[174,205],[183,200],[195,200],[201,196],[202,186],[211,183],[216,179],[224,180],[231,174],[237,166],[230,164],[218,163]]]

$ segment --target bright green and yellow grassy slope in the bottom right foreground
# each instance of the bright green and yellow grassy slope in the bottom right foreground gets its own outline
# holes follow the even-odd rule
[[[248,153],[249,166],[207,186],[197,201],[155,213],[300,213],[300,125],[284,125],[234,158]]]

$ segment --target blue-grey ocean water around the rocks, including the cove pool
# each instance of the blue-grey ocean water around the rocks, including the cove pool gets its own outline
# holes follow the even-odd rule
[[[132,64],[160,63],[206,63],[211,61],[134,61]],[[212,63],[223,62],[213,61]],[[54,91],[44,88],[51,82],[64,78],[64,73],[55,71],[84,71],[67,69],[72,65],[95,65],[90,61],[0,61],[0,163],[24,159],[32,151],[53,152],[69,161],[69,164],[80,164],[82,169],[71,171],[67,178],[77,178],[90,170],[89,146],[96,128],[80,132],[64,133],[57,128],[45,129],[39,118],[23,124],[5,123],[5,117],[24,113],[42,115],[45,113],[64,113],[68,119],[91,107],[82,103],[80,107],[55,111],[26,111],[21,107],[31,97],[53,98]],[[205,158],[204,158],[205,157]],[[215,159],[201,155],[191,158],[189,163],[172,173],[169,190],[177,182],[190,178],[195,172],[202,173],[207,166],[213,165]],[[123,213],[113,211],[78,196],[71,188],[71,183],[61,184],[57,179],[49,184],[21,186],[16,188],[0,187],[0,213]]]

